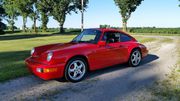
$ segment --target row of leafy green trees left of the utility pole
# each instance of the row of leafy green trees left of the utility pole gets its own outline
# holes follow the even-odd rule
[[[87,7],[88,0],[84,0],[84,9]],[[10,25],[14,32],[15,20],[18,16],[23,19],[23,31],[26,32],[27,18],[33,21],[34,32],[37,32],[36,21],[41,20],[43,31],[47,30],[49,16],[52,16],[60,26],[60,32],[64,32],[63,26],[66,15],[71,12],[77,13],[80,8],[81,0],[0,0],[0,22],[2,18]],[[2,23],[2,22],[1,22]]]

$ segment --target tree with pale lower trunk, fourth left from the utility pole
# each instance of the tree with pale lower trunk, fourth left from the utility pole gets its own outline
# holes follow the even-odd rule
[[[18,10],[18,13],[23,18],[23,31],[26,32],[26,22],[27,17],[32,12],[32,2],[31,0],[16,0],[16,7]]]

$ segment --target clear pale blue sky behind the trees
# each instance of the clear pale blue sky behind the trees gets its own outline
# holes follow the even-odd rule
[[[128,20],[128,27],[180,27],[179,4],[178,0],[144,0],[132,13]],[[119,8],[115,5],[114,0],[89,0],[85,12],[85,28],[97,28],[101,24],[122,27],[121,20]],[[19,28],[22,27],[21,17],[18,17],[15,25]],[[37,22],[37,25],[41,25],[40,21]],[[32,21],[28,19],[27,27],[31,26]],[[47,26],[56,28],[59,27],[59,23],[50,17]],[[80,12],[67,15],[64,27],[80,28],[80,26]]]

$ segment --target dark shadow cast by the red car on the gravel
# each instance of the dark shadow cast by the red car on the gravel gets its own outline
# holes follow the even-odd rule
[[[153,61],[155,61],[157,59],[159,59],[159,57],[157,55],[148,54],[145,58],[143,58],[141,64],[138,67],[140,67],[140,66],[142,67],[143,65],[149,64],[149,63],[151,63],[151,62],[153,62]],[[129,67],[130,66],[128,65],[128,63],[110,66],[110,67],[107,67],[107,68],[99,69],[99,70],[92,71],[92,72],[88,73],[87,78],[91,79],[91,78],[94,78],[94,77],[99,76],[99,75],[114,72],[114,71],[117,71],[117,70],[127,69]],[[138,68],[138,67],[136,67],[136,68]]]

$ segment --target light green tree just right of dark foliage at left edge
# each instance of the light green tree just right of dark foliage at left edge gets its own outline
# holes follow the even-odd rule
[[[11,31],[14,32],[14,20],[16,20],[17,16],[19,15],[16,8],[16,1],[15,0],[3,0],[3,8],[7,14],[7,22],[11,27]]]

